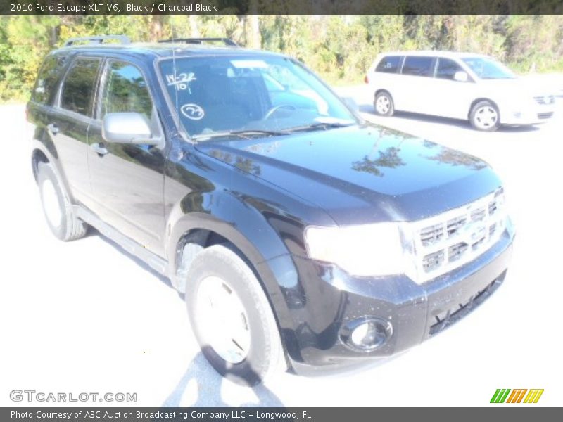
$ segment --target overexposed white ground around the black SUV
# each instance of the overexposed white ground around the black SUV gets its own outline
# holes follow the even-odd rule
[[[71,243],[51,236],[32,179],[24,108],[1,106],[0,405],[18,404],[11,390],[32,389],[134,392],[137,402],[103,404],[150,407],[485,406],[497,388],[544,388],[538,405],[560,405],[563,107],[539,127],[479,133],[436,117],[376,117],[364,87],[339,91],[367,119],[484,158],[505,181],[517,224],[514,261],[478,312],[352,373],[283,373],[257,388],[223,381],[198,351],[184,302],[165,279],[98,234]],[[73,404],[81,403],[66,403]]]

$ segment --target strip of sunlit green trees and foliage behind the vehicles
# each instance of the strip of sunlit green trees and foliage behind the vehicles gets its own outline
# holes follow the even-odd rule
[[[378,53],[393,50],[474,51],[517,72],[563,71],[563,17],[557,15],[3,16],[0,101],[27,100],[46,53],[70,37],[96,34],[138,41],[229,37],[289,54],[336,84],[360,82]]]

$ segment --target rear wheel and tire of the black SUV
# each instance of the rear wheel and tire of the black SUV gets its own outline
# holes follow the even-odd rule
[[[53,234],[61,241],[84,237],[88,226],[76,217],[65,189],[48,162],[37,164],[37,185],[43,213]]]

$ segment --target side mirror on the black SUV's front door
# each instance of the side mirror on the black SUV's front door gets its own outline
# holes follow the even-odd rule
[[[160,145],[161,141],[153,137],[148,120],[140,113],[108,113],[103,117],[101,136],[113,143]]]

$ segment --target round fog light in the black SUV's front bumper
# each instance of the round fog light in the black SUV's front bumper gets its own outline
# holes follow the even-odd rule
[[[348,347],[369,352],[384,345],[392,333],[391,324],[387,321],[365,316],[343,326],[340,337]]]

